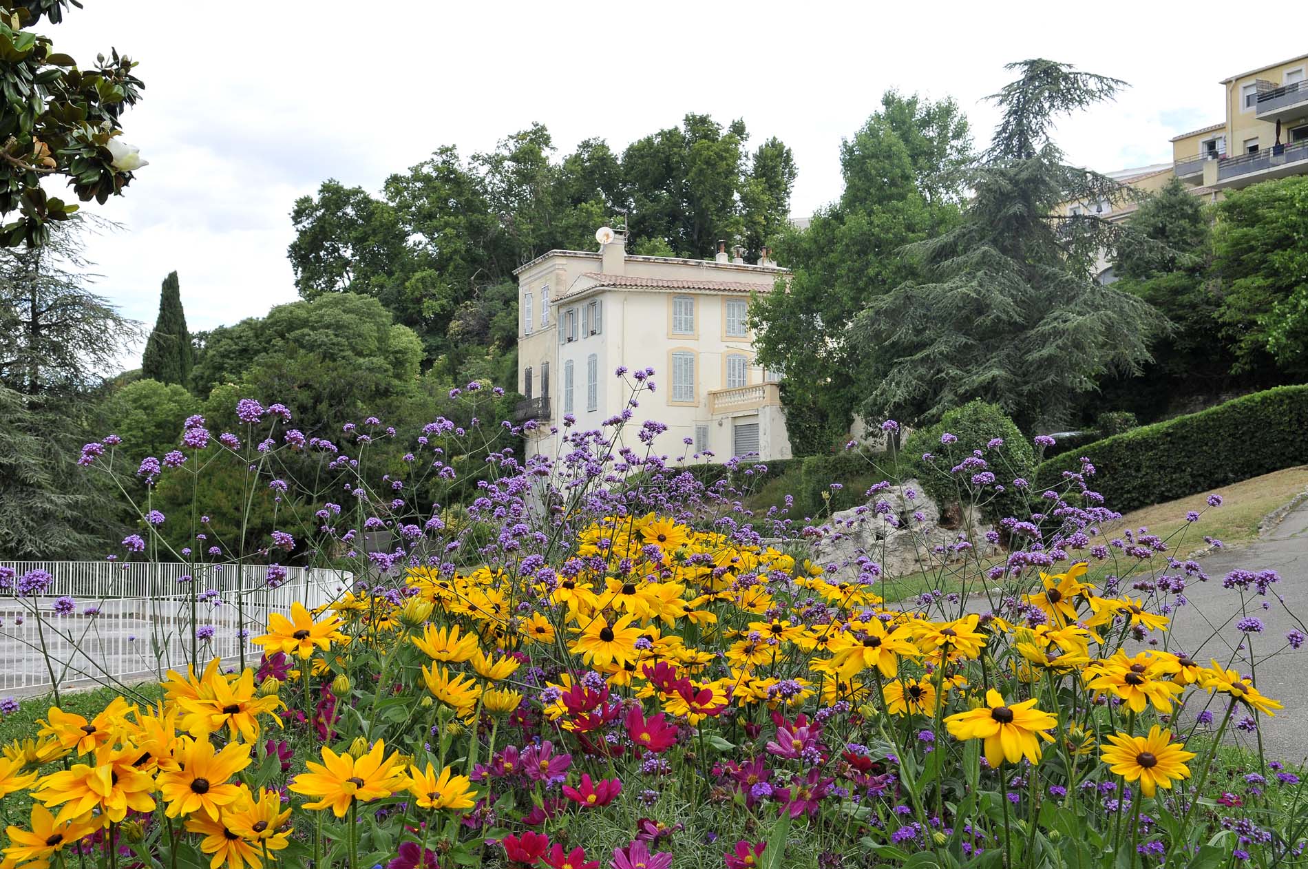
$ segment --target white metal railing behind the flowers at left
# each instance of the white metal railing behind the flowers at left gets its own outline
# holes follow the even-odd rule
[[[50,589],[39,598],[0,597],[0,692],[31,694],[51,686],[51,667],[59,684],[75,682],[161,678],[169,669],[186,671],[195,657],[207,662],[213,657],[235,661],[245,647],[246,664],[259,661],[262,648],[252,643],[264,632],[269,612],[288,612],[300,601],[307,607],[322,606],[353,582],[353,575],[341,571],[288,568],[286,581],[276,588],[263,582],[264,568],[258,567],[259,585],[250,590],[216,589],[192,602],[190,589],[178,593],[175,576],[170,594],[111,595],[65,594],[85,582],[94,572],[80,572],[71,565],[81,563],[3,563],[60,565]],[[128,567],[128,565],[118,565]],[[184,565],[137,563],[129,567],[174,568]],[[25,567],[25,571],[33,567]],[[41,567],[39,569],[50,569]],[[145,580],[161,581],[158,573],[140,572]],[[232,585],[235,569],[229,568]],[[21,575],[21,572],[20,572]],[[111,577],[110,592],[139,588],[145,581],[132,571]],[[135,582],[135,584],[133,584]],[[252,585],[252,584],[251,584]],[[213,585],[203,586],[213,588]],[[73,597],[71,612],[59,612],[59,597]],[[192,619],[192,605],[195,616]],[[67,609],[64,606],[63,609]],[[47,664],[48,656],[48,664]]]

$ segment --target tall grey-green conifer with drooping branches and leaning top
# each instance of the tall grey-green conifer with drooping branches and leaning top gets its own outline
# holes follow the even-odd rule
[[[971,173],[963,221],[913,245],[925,280],[874,298],[855,328],[884,359],[863,408],[938,420],[972,398],[1020,427],[1063,419],[1097,378],[1138,372],[1165,321],[1143,300],[1093,280],[1117,228],[1067,202],[1120,199],[1110,178],[1063,162],[1054,119],[1112,97],[1121,82],[1050,60],[1011,64],[1002,115]]]

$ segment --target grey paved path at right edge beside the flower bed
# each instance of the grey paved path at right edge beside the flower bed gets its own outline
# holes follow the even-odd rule
[[[1308,633],[1304,627],[1308,623],[1308,503],[1291,510],[1262,539],[1237,550],[1218,550],[1199,563],[1209,581],[1186,588],[1190,606],[1176,614],[1169,648],[1199,661],[1214,657],[1222,664],[1230,661],[1240,643],[1235,627],[1241,618],[1240,594],[1222,588],[1222,580],[1236,568],[1275,571],[1281,581],[1271,586],[1266,598],[1247,594],[1248,614],[1265,627],[1262,633],[1252,635],[1258,691],[1286,707],[1275,717],[1262,718],[1262,738],[1269,759],[1298,763],[1308,758],[1308,647],[1273,654],[1286,645],[1287,631],[1298,628]],[[1275,595],[1281,595],[1283,603]],[[1264,601],[1271,605],[1270,609],[1262,609]],[[1248,674],[1248,656],[1241,654],[1245,664],[1232,667]],[[1264,660],[1269,654],[1273,657]]]

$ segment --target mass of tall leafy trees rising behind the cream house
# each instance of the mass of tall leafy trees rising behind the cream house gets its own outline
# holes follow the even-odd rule
[[[621,154],[586,139],[559,158],[549,131],[532,124],[467,158],[437,148],[378,195],[328,179],[292,211],[296,285],[306,300],[377,298],[450,378],[508,372],[513,271],[534,257],[589,250],[603,224],[625,224],[636,253],[708,257],[722,238],[756,255],[773,243],[794,156],[777,139],[751,152],[748,137],[742,120],[692,114]]]

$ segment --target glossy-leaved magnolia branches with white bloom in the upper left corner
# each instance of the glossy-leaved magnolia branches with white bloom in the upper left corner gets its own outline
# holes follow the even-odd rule
[[[42,179],[61,177],[82,202],[103,204],[122,194],[144,165],[116,139],[119,118],[144,88],[136,64],[116,50],[95,65],[56,52],[50,37],[31,31],[46,17],[63,21],[77,0],[0,0],[0,247],[35,246],[51,221],[67,220],[76,203],[50,196]]]

